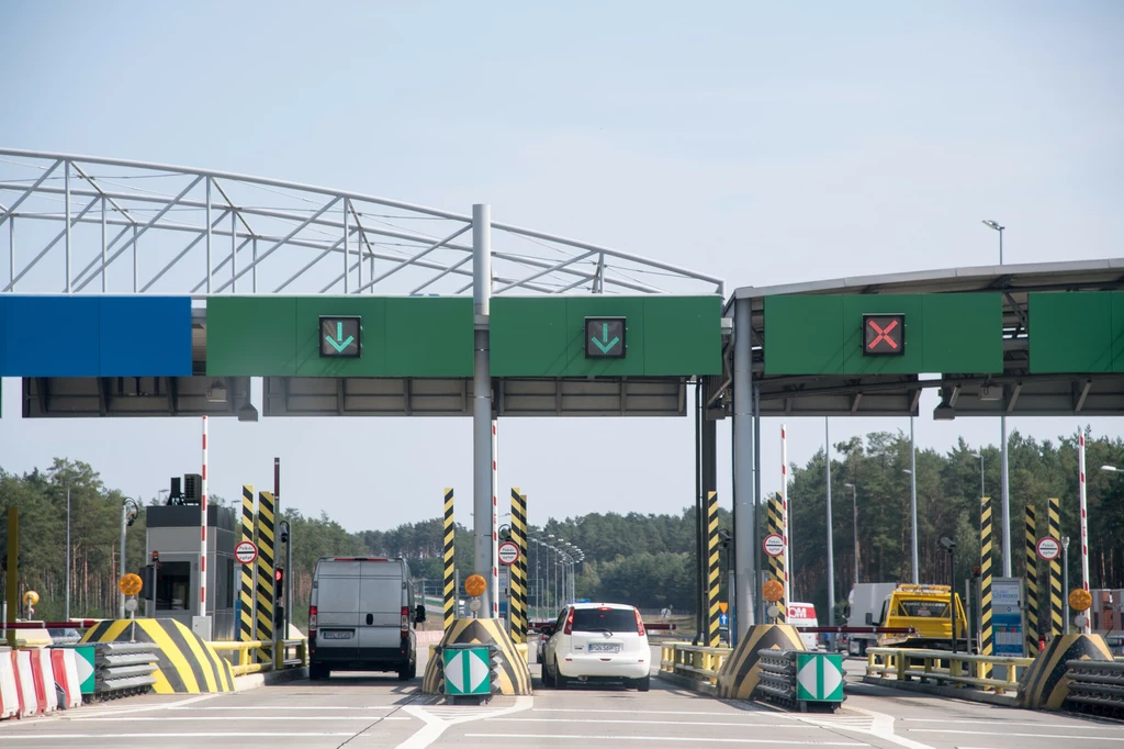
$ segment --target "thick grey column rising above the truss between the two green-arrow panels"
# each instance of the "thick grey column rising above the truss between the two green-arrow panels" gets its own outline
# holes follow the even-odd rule
[[[475,540],[473,569],[492,579],[492,476],[491,476],[491,370],[488,355],[488,314],[491,303],[491,210],[472,206],[472,301],[475,313],[475,348],[472,379],[472,533]],[[480,611],[491,613],[497,592],[489,587],[480,596]]]

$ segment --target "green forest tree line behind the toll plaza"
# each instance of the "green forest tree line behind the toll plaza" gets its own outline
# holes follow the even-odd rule
[[[1037,508],[1036,535],[1046,532],[1046,500],[1061,500],[1062,534],[1070,547],[1069,586],[1080,580],[1078,550],[1077,434],[1057,441],[1035,441],[1013,433],[1008,444],[1013,574],[1023,575],[1024,512]],[[854,536],[859,545],[859,578],[868,581],[908,581],[912,577],[912,525],[909,440],[878,432],[833,445],[832,531],[835,599],[842,608],[854,584]],[[917,535],[918,577],[922,583],[955,581],[958,589],[979,563],[980,452],[963,441],[946,452],[918,450]],[[995,545],[1001,543],[999,511],[999,450],[982,449],[984,489],[994,498]],[[1124,468],[1121,440],[1087,440],[1089,508],[1089,571],[1091,587],[1124,587],[1124,475],[1102,471],[1100,466]],[[806,464],[791,466],[789,486],[791,570],[794,598],[816,604],[826,622],[825,453],[819,450]],[[853,485],[853,490],[850,486]],[[768,484],[765,485],[768,487]],[[20,514],[20,595],[36,590],[40,602],[36,619],[58,620],[66,599],[66,502],[70,497],[71,615],[115,616],[120,567],[120,513],[125,496],[105,486],[89,464],[55,459],[45,470],[18,476],[0,470],[0,512],[18,507]],[[223,504],[219,497],[212,502]],[[690,498],[687,499],[690,502]],[[155,504],[149,499],[146,504]],[[685,503],[686,504],[686,503]],[[858,524],[854,522],[858,509]],[[426,580],[430,595],[439,594],[443,577],[444,533],[441,518],[406,523],[393,529],[350,532],[320,513],[306,516],[284,507],[281,517],[292,529],[293,585],[289,602],[292,621],[305,626],[311,576],[316,560],[332,554],[404,557],[417,580]],[[719,511],[719,526],[731,529],[733,518]],[[763,531],[763,529],[762,529]],[[552,545],[565,539],[579,547],[584,561],[578,566],[578,597],[620,601],[646,608],[670,606],[694,611],[697,589],[695,508],[679,514],[592,513],[550,518],[532,526],[529,534]],[[551,536],[553,535],[553,539]],[[957,541],[957,569],[950,576],[941,536]],[[755,543],[760,543],[756,535]],[[2,542],[3,539],[0,539]],[[128,531],[128,569],[145,562],[145,517],[140,513]],[[724,550],[722,569],[728,569],[732,550]],[[456,569],[463,586],[472,574],[473,541],[470,530],[456,526]],[[6,559],[4,554],[0,558]],[[284,560],[279,550],[279,560]],[[527,559],[528,587],[543,605],[555,605],[558,589],[555,554],[532,543]],[[999,558],[994,568],[1001,571]],[[726,576],[722,578],[726,599]],[[551,590],[551,598],[546,597]]]

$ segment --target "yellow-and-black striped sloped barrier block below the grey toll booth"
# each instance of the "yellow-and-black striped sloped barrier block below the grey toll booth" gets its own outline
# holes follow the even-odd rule
[[[82,642],[130,640],[155,646],[158,668],[153,673],[156,683],[152,689],[156,694],[234,692],[230,664],[174,619],[109,620],[99,622],[82,635]]]

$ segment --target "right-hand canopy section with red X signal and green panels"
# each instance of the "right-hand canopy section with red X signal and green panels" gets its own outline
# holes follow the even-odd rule
[[[955,268],[742,287],[725,314],[749,305],[762,416],[917,415],[925,388],[935,418],[1106,416],[1124,413],[1122,287],[1122,259]],[[710,378],[711,403],[733,379]]]

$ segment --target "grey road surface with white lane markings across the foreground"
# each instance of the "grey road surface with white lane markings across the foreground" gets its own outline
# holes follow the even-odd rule
[[[532,648],[534,652],[534,648]],[[655,651],[659,656],[659,650]],[[858,674],[855,669],[849,669]],[[538,667],[532,666],[537,674]],[[420,673],[420,669],[419,669]],[[343,675],[225,695],[148,695],[0,723],[2,747],[1121,747],[1124,723],[930,697],[847,682],[834,714],[724,702],[653,679],[652,691],[543,688],[450,706],[420,679]]]

